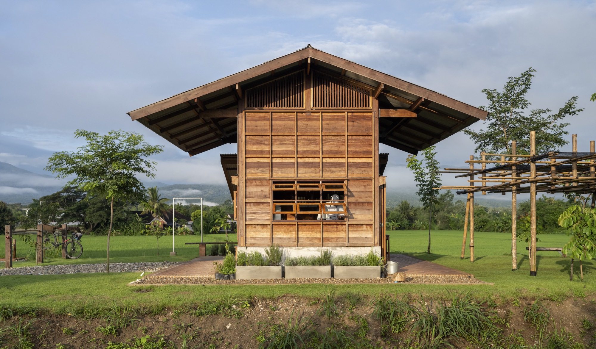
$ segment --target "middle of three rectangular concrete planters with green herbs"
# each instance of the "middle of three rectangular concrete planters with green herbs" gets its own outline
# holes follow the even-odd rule
[[[331,278],[331,251],[322,250],[321,255],[287,258],[285,260],[285,278]]]

